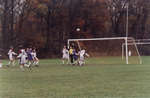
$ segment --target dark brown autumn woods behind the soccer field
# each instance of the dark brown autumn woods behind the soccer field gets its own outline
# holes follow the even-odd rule
[[[0,0],[0,47],[58,57],[69,38],[124,37],[127,4],[129,36],[150,38],[149,0]]]

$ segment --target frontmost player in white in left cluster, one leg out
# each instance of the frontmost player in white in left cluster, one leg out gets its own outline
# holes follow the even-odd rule
[[[21,53],[17,56],[17,58],[20,59],[20,68],[22,71],[24,71],[24,67],[30,67],[29,65],[27,65],[27,53],[24,49],[21,50]]]

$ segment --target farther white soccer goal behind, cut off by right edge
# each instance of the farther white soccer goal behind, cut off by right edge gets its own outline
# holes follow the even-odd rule
[[[134,47],[136,48],[136,53],[132,49],[129,49],[129,58],[130,57],[135,57],[135,54],[138,55],[138,61],[140,64],[149,62],[150,58],[150,39],[130,39],[128,40],[128,48],[129,47]],[[125,43],[122,45],[122,59],[125,58],[124,56],[124,49],[125,48]]]

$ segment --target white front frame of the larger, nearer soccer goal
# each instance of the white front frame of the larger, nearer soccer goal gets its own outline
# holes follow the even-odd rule
[[[133,39],[131,37],[110,37],[110,38],[88,38],[88,39],[68,39],[68,48],[70,47],[70,42],[73,41],[96,41],[96,40],[124,40],[125,41],[125,49],[126,49],[126,64],[129,64],[129,57],[128,57],[128,39]],[[79,43],[78,43],[79,44]],[[135,44],[136,46],[136,44]],[[79,46],[81,49],[81,47]],[[137,50],[138,51],[138,50]]]

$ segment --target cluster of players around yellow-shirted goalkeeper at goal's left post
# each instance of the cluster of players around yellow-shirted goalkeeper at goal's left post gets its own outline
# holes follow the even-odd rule
[[[85,64],[85,56],[89,57],[89,54],[86,53],[84,49],[77,51],[74,47],[70,46],[67,49],[64,46],[62,50],[62,63],[65,64],[72,64],[72,65],[84,65]]]

